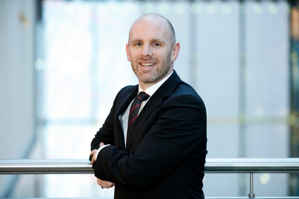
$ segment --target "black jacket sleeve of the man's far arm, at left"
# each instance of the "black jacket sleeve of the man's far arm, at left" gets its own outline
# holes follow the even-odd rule
[[[123,89],[122,89],[123,90]],[[93,149],[99,149],[100,143],[103,142],[105,144],[111,144],[115,145],[114,141],[114,111],[115,111],[115,104],[118,98],[118,95],[122,91],[120,90],[118,94],[116,95],[113,106],[110,110],[110,113],[108,117],[105,120],[105,123],[103,124],[103,127],[100,128],[100,130],[97,132],[97,134],[94,135],[94,138],[91,141],[91,151]],[[91,161],[92,156],[89,156],[89,160]]]

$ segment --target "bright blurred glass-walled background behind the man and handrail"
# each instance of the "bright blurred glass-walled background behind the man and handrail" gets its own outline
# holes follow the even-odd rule
[[[125,45],[166,17],[174,69],[205,102],[207,158],[299,157],[299,11],[286,0],[0,0],[0,159],[89,158],[117,92],[138,84]],[[254,174],[256,196],[298,196],[298,174]],[[246,196],[249,174],[206,174]],[[109,197],[94,175],[0,175],[0,198]]]

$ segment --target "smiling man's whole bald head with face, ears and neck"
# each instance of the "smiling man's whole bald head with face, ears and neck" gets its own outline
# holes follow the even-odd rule
[[[126,54],[141,89],[161,81],[173,71],[180,43],[171,23],[161,15],[147,14],[132,25]]]

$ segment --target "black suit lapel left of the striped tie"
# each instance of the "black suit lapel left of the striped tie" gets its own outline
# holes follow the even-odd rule
[[[126,111],[126,109],[128,108],[128,106],[131,103],[131,101],[133,100],[133,98],[135,98],[138,95],[138,85],[136,85],[134,87],[135,88],[132,90],[132,92],[130,92],[129,95],[127,95],[127,97],[123,99],[123,101],[121,102],[121,104],[119,105],[119,107],[116,110],[116,114],[114,115],[114,117],[115,117],[115,132],[117,133],[117,137],[121,143],[121,149],[124,151],[126,150],[125,139],[123,137],[123,128],[121,127],[118,115],[123,114],[123,112]]]

